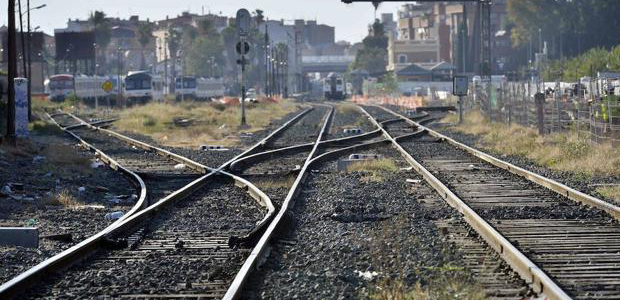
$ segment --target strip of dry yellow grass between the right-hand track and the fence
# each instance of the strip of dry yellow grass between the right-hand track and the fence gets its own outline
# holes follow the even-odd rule
[[[453,121],[448,116],[444,121]],[[609,144],[593,144],[575,132],[538,136],[532,128],[520,125],[489,124],[480,112],[466,114],[455,130],[480,136],[480,145],[493,152],[527,157],[541,166],[590,177],[620,175],[620,150]]]

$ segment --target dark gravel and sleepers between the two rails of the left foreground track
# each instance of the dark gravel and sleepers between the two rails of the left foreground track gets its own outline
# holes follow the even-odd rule
[[[227,238],[246,234],[264,214],[232,181],[213,181],[158,213],[137,244],[102,250],[62,277],[49,278],[24,299],[108,299],[127,294],[148,298],[174,293],[219,299],[249,254],[229,248]]]

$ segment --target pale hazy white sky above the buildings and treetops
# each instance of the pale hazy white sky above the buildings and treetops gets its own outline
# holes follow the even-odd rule
[[[0,0],[0,24],[6,25],[7,0]],[[25,7],[26,0],[22,0]],[[248,4],[251,3],[251,4]],[[370,3],[344,4],[340,0],[31,0],[30,6],[47,4],[47,7],[31,12],[32,27],[41,26],[46,33],[53,34],[54,28],[66,26],[69,18],[85,19],[91,11],[102,10],[112,17],[127,18],[140,15],[140,19],[165,19],[183,11],[205,12],[234,16],[237,9],[249,11],[262,9],[269,19],[316,19],[319,23],[336,27],[336,40],[360,41],[372,22],[374,8]],[[377,12],[396,13],[400,3],[382,4]]]

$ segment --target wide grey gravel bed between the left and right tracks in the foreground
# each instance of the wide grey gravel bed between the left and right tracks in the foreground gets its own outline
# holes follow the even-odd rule
[[[399,157],[390,147],[360,153]],[[396,159],[396,165],[406,163]],[[368,172],[335,170],[331,161],[310,172],[288,230],[242,299],[368,298],[387,278],[402,276],[408,287],[427,285],[440,270],[462,265],[457,246],[434,225],[459,215],[425,183],[406,182],[422,179],[417,173],[401,169],[367,181]],[[423,204],[429,201],[439,204]],[[474,284],[467,270],[460,275]]]

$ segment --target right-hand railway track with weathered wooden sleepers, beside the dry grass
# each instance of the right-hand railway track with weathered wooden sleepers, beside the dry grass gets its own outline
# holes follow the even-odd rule
[[[405,116],[377,107],[368,110],[379,117],[392,114],[427,133],[393,144],[536,292],[549,299],[620,299],[620,226],[613,217],[620,208],[459,144]],[[400,133],[384,127],[386,137]]]

